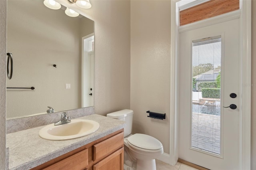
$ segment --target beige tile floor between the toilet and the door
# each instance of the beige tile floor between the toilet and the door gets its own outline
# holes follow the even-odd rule
[[[197,170],[180,162],[177,162],[175,166],[169,165],[165,162],[156,159],[156,170]]]

